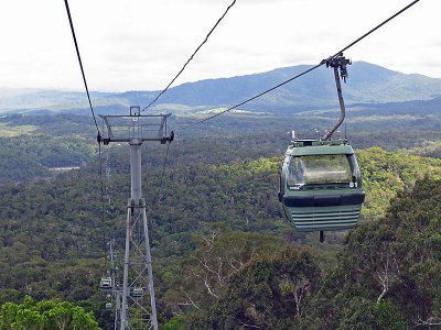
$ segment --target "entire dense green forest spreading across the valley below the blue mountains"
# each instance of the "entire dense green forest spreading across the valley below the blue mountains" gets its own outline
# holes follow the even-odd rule
[[[367,119],[364,130],[356,129],[361,120],[348,130],[367,194],[362,223],[327,233],[323,244],[283,219],[277,190],[292,122],[298,134],[311,138],[329,118],[232,116],[190,132],[179,128],[192,119],[174,119],[176,141],[163,176],[165,146],[143,146],[165,329],[408,329],[441,322],[438,121],[385,130],[389,119]],[[127,148],[106,146],[98,157],[89,118],[12,116],[0,124],[0,162],[11,162],[0,163],[0,305],[17,309],[26,295],[69,301],[110,329],[98,283],[108,268],[107,241],[114,238],[122,255]],[[430,129],[418,129],[426,124]],[[80,169],[49,172],[62,166]],[[99,175],[100,167],[107,175]],[[26,308],[35,309],[32,304]]]

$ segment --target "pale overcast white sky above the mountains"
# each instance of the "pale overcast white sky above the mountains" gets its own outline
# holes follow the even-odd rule
[[[89,90],[162,90],[233,0],[69,0]],[[236,0],[173,86],[319,64],[411,0]],[[441,78],[440,0],[345,52]],[[0,6],[0,88],[84,90],[64,0]],[[351,74],[351,72],[349,72]]]

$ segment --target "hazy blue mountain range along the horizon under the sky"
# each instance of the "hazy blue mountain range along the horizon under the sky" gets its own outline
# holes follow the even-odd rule
[[[200,112],[232,107],[304,72],[309,65],[277,68],[254,75],[206,79],[172,87],[152,107],[153,111],[174,113]],[[349,78],[343,86],[345,102],[379,105],[389,102],[430,101],[441,97],[441,79],[406,75],[387,68],[356,62],[348,67]],[[92,92],[99,113],[121,113],[130,105],[147,106],[159,91]],[[433,102],[433,101],[431,101]],[[334,76],[324,66],[291,81],[240,109],[275,114],[337,105]],[[439,105],[439,101],[438,101]],[[423,106],[424,107],[424,106]],[[87,111],[83,91],[44,89],[0,89],[0,112],[73,112]]]

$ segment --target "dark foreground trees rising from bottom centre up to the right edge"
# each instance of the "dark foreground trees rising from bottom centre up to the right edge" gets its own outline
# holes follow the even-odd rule
[[[324,273],[308,249],[258,256],[228,278],[192,329],[439,329],[439,179],[426,178],[363,223]],[[211,264],[214,266],[214,264]]]

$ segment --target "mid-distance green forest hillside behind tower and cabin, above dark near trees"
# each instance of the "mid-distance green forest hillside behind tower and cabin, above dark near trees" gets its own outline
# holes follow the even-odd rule
[[[126,200],[130,182],[125,152],[110,151],[111,176],[106,186],[111,199],[105,205],[105,221],[95,164],[52,180],[0,188],[0,283],[8,284],[0,287],[0,301],[17,302],[25,294],[32,294],[37,299],[56,297],[78,301],[97,316],[101,315],[104,297],[98,293],[97,282],[106,272],[103,234],[115,237],[118,249],[123,246],[125,206],[120,201]],[[405,163],[402,154],[379,148],[359,151],[358,158],[368,193],[364,207],[366,219],[369,215],[384,213],[387,200],[406,186],[411,187],[419,175],[439,170],[437,160],[409,156]],[[201,263],[204,258],[214,266],[216,257],[222,256],[223,265],[227,265],[223,267],[220,280],[207,277],[217,297],[235,274],[235,267],[240,270],[261,251],[277,252],[282,240],[313,245],[323,270],[335,263],[338,235],[331,240],[330,233],[329,243],[319,245],[315,237],[295,233],[282,219],[276,195],[280,156],[229,158],[225,163],[222,160],[213,157],[212,162],[218,162],[215,166],[179,163],[178,158],[171,164],[173,170],[163,178],[159,169],[144,172],[147,187],[159,187],[162,180],[160,194],[149,189],[146,199],[153,206],[148,208],[148,218],[153,221],[157,297],[165,318],[173,312],[193,312],[197,308],[191,301],[204,309],[218,300],[201,279],[205,278]],[[147,157],[143,164],[152,166],[152,162]],[[204,240],[211,231],[218,230],[220,234],[209,252]],[[229,265],[227,261],[232,257],[240,263]]]

